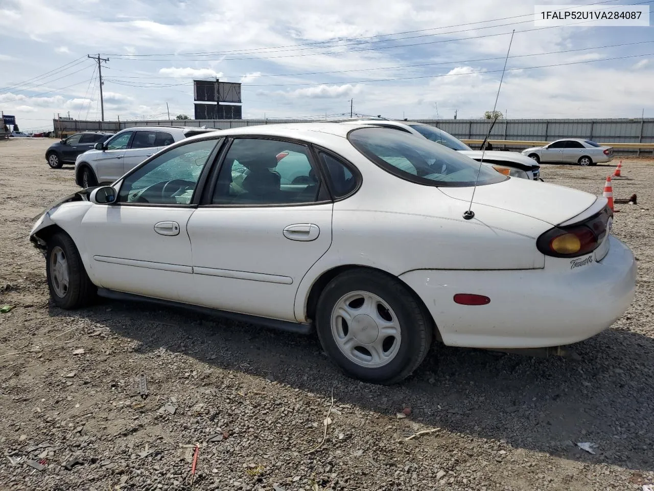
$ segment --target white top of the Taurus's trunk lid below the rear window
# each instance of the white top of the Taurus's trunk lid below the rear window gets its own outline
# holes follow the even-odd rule
[[[439,187],[443,194],[470,202],[473,187]],[[594,194],[549,183],[509,178],[497,184],[477,186],[474,204],[506,209],[559,225],[576,217],[597,200]],[[479,217],[481,219],[481,217]]]

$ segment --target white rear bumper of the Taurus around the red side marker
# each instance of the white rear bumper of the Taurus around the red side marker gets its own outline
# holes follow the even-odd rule
[[[416,270],[400,278],[422,298],[449,346],[560,346],[604,331],[633,300],[634,256],[609,240],[602,261],[572,269],[546,263],[540,270]],[[490,303],[459,305],[456,293],[486,295]]]

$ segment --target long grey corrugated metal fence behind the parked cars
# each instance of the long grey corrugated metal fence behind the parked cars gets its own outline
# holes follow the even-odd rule
[[[484,139],[490,121],[484,119],[416,120],[436,126],[464,140]],[[305,119],[233,119],[233,120],[142,120],[84,121],[53,120],[58,135],[80,131],[117,132],[131,126],[205,126],[225,130],[241,126],[307,122]],[[654,118],[636,119],[511,119],[498,120],[490,140],[553,141],[559,138],[587,138],[600,143],[654,143]],[[525,145],[523,145],[524,147]],[[624,153],[628,153],[625,151]]]

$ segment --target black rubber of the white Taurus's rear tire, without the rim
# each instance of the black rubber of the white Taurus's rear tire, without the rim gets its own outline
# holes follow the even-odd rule
[[[377,295],[390,306],[400,325],[401,342],[394,357],[381,367],[363,367],[351,361],[332,334],[332,311],[351,292]],[[399,280],[376,271],[355,270],[339,274],[320,293],[316,327],[322,348],[348,376],[373,384],[395,384],[422,363],[434,336],[434,324],[415,295]]]

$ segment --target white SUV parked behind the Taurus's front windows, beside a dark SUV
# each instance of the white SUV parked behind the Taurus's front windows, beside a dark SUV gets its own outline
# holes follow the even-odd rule
[[[149,156],[188,136],[215,131],[179,126],[133,126],[77,156],[75,183],[87,188],[112,183]]]

